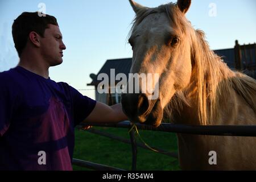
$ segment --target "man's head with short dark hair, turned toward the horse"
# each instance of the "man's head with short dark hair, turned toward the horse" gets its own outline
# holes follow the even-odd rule
[[[49,66],[62,63],[62,35],[54,16],[24,12],[14,20],[13,39],[19,57],[27,46],[39,52]]]

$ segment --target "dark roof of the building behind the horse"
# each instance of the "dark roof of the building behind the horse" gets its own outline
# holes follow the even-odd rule
[[[229,68],[235,68],[235,58],[234,58],[234,49],[220,49],[214,51],[218,56],[221,56]],[[87,85],[98,85],[101,81],[97,80],[98,75],[101,73],[106,73],[110,77],[110,69],[115,69],[115,75],[118,73],[125,73],[128,76],[131,69],[131,58],[126,59],[113,59],[107,60],[103,67],[100,69],[97,75],[91,74],[92,82]]]

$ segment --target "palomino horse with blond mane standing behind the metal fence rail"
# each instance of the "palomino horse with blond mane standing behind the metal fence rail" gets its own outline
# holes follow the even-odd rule
[[[191,1],[156,8],[130,3],[136,13],[131,73],[159,73],[158,99],[122,94],[131,121],[157,127],[167,116],[185,125],[256,124],[256,81],[231,71],[210,51],[204,32],[185,18]],[[177,139],[181,169],[256,169],[256,138],[177,134]],[[209,163],[210,151],[216,163]]]

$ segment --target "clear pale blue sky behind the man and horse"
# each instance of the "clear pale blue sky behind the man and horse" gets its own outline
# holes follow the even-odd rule
[[[137,2],[157,7],[176,1]],[[57,18],[67,47],[63,64],[50,68],[49,76],[95,98],[94,87],[86,86],[92,81],[90,73],[97,74],[106,60],[132,57],[127,35],[135,13],[129,1],[0,0],[0,72],[19,62],[11,35],[13,20],[23,11],[42,10]],[[192,0],[186,16],[194,28],[205,32],[211,49],[233,48],[235,40],[240,44],[256,42],[255,0]]]

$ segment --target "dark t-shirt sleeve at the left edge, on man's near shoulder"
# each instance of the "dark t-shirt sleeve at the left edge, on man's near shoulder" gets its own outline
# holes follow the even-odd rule
[[[0,137],[6,133],[11,123],[15,105],[15,94],[11,88],[13,81],[4,73],[0,73]]]

